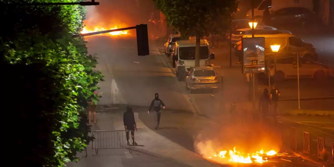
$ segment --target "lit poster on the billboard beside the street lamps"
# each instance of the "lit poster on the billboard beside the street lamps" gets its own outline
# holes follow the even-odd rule
[[[265,68],[265,37],[242,38],[242,72],[259,73]]]

